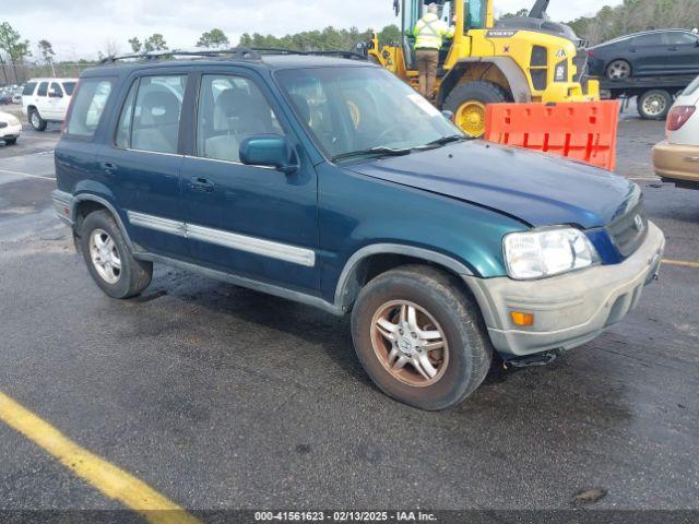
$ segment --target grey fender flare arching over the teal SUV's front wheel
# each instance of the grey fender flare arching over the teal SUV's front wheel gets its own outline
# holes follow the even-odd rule
[[[437,251],[417,248],[403,243],[371,243],[354,252],[345,263],[337,285],[335,286],[334,305],[341,311],[347,311],[352,305],[352,299],[356,297],[359,290],[359,284],[356,278],[362,263],[375,254],[403,254],[425,262],[434,262],[443,266],[460,276],[474,276],[470,267],[464,263]]]

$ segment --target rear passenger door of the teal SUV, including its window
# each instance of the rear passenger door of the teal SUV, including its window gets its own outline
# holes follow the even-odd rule
[[[186,71],[159,69],[128,79],[111,134],[97,153],[100,174],[133,242],[178,259],[187,254],[180,193],[187,78]]]

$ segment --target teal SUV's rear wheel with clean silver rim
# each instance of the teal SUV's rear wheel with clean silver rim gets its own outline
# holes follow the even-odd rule
[[[151,284],[153,264],[133,258],[107,211],[95,211],[83,221],[80,248],[90,274],[108,296],[135,297]]]

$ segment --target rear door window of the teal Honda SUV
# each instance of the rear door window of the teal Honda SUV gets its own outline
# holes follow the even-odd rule
[[[186,84],[187,75],[143,76],[139,81],[131,117],[131,148],[177,153]]]

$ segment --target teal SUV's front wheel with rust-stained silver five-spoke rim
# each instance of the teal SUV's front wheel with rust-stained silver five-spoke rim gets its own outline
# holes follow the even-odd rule
[[[455,277],[429,266],[400,267],[369,282],[352,312],[352,337],[381,391],[426,410],[465,400],[493,360],[473,298]]]

